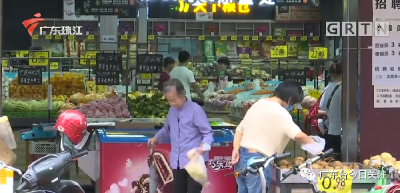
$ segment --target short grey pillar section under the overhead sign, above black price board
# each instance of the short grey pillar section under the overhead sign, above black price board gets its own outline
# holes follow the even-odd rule
[[[118,50],[118,16],[100,16],[100,50]]]

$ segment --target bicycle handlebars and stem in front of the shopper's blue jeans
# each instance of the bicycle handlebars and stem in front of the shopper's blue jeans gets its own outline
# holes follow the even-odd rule
[[[267,182],[265,180],[264,169],[266,169],[272,161],[284,159],[290,157],[291,155],[291,153],[284,153],[280,155],[273,155],[271,157],[252,157],[247,160],[245,168],[239,169],[238,171],[227,174],[225,176],[235,175],[235,177],[237,178],[239,176],[246,176],[247,174],[258,174],[261,179],[262,193],[267,193],[269,187],[267,186]]]

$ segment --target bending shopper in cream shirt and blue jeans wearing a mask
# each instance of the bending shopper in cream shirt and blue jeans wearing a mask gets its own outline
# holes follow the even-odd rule
[[[302,102],[303,97],[299,83],[285,80],[276,87],[273,97],[261,99],[252,105],[236,128],[232,152],[235,170],[244,168],[251,157],[281,154],[290,139],[314,155],[324,149],[324,140],[303,133],[289,113]],[[270,187],[270,167],[265,169],[265,176]],[[262,192],[258,175],[238,177],[236,182],[238,193]]]

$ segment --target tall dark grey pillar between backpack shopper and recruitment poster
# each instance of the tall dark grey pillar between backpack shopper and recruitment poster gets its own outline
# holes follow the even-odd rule
[[[343,0],[343,21],[358,21],[358,0]],[[358,161],[359,37],[343,37],[342,161]]]

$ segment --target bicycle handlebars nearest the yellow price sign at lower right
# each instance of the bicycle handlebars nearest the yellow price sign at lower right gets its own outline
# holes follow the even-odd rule
[[[311,166],[312,166],[312,164],[313,164],[314,162],[316,162],[316,161],[318,161],[318,160],[320,160],[320,159],[324,159],[325,157],[327,157],[328,155],[330,155],[330,154],[332,154],[332,153],[333,153],[333,149],[328,149],[328,150],[326,150],[325,152],[322,152],[322,153],[318,154],[318,156],[316,156],[316,157],[314,157],[314,158],[307,159],[307,160],[304,161],[304,163],[301,164],[301,165],[298,165],[298,166],[295,165],[295,166],[293,166],[288,172],[282,174],[282,178],[283,178],[283,179],[281,180],[281,182],[283,182],[286,178],[288,178],[288,177],[291,176],[291,175],[297,175],[297,174],[300,172],[300,170],[301,170],[302,168],[308,168],[309,170],[312,171],[312,167],[311,167]],[[315,180],[307,179],[307,181],[308,181],[308,183],[311,184],[313,193],[326,193],[325,191],[321,191],[321,190],[319,189],[319,187],[318,187],[318,182],[316,182]]]

